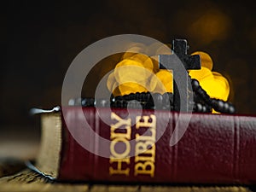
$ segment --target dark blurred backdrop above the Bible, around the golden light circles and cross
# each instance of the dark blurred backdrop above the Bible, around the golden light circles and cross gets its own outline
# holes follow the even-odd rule
[[[127,33],[166,44],[186,38],[189,53],[207,52],[230,80],[237,113],[256,114],[253,1],[10,1],[1,6],[1,128],[33,126],[29,109],[61,104],[65,73],[82,49]]]

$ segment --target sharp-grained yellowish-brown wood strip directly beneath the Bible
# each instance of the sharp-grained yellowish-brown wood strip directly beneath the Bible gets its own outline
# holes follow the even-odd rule
[[[13,171],[14,172],[14,171]],[[0,178],[0,192],[249,192],[242,186],[159,186],[159,185],[120,185],[88,183],[55,183],[36,172],[25,168],[13,175]]]

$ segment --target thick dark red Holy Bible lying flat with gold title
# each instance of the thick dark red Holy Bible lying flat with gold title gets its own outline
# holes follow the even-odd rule
[[[71,106],[39,115],[41,148],[30,167],[50,179],[256,183],[253,115]],[[170,143],[184,121],[189,123],[183,136]]]

